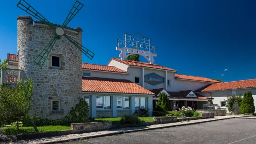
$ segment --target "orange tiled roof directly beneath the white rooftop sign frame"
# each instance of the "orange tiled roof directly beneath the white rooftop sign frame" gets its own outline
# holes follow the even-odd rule
[[[123,63],[125,65],[133,65],[133,66],[140,66],[140,67],[149,67],[149,68],[155,68],[155,69],[162,69],[162,70],[168,70],[168,71],[176,71],[174,69],[168,68],[168,67],[164,67],[161,65],[157,65],[157,64],[150,64],[150,63],[146,63],[146,62],[139,62],[139,61],[133,61],[133,60],[122,60],[122,59],[117,59],[117,58],[112,58],[111,60],[116,60],[120,63]],[[110,61],[111,61],[110,60]],[[110,63],[109,61],[109,63]]]

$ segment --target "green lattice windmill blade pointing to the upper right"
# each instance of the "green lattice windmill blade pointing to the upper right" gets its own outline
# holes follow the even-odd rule
[[[64,21],[61,28],[65,28],[67,24],[75,17],[75,15],[81,10],[81,8],[84,7],[82,3],[76,0],[73,7],[71,8],[70,12],[68,13],[66,20]]]

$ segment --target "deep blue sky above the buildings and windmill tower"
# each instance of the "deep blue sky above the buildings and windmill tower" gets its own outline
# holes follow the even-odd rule
[[[62,24],[75,0],[26,0],[47,20]],[[0,58],[17,53],[19,0],[0,0]],[[180,74],[256,79],[255,0],[80,0],[69,23],[83,29],[83,45],[95,52],[83,62],[106,65],[118,58],[116,39],[141,33],[157,46],[156,64]],[[34,19],[35,20],[35,19]],[[145,61],[143,57],[140,58]]]

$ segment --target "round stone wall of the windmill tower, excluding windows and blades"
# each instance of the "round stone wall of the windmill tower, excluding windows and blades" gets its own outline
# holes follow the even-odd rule
[[[42,67],[36,65],[33,60],[51,41],[55,30],[47,26],[33,26],[33,20],[29,16],[19,16],[17,20],[19,69],[24,70],[34,82],[32,115],[49,119],[63,118],[79,102],[82,93],[81,51],[62,36],[57,39],[45,64]],[[65,33],[81,43],[81,29]],[[52,55],[60,56],[61,69],[51,67]],[[51,111],[53,99],[61,99],[61,113]]]

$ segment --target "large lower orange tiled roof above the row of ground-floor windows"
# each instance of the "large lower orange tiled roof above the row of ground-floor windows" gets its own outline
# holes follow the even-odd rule
[[[110,93],[132,93],[132,94],[149,94],[153,92],[125,79],[106,79],[84,77],[82,78],[83,92],[110,92]]]

